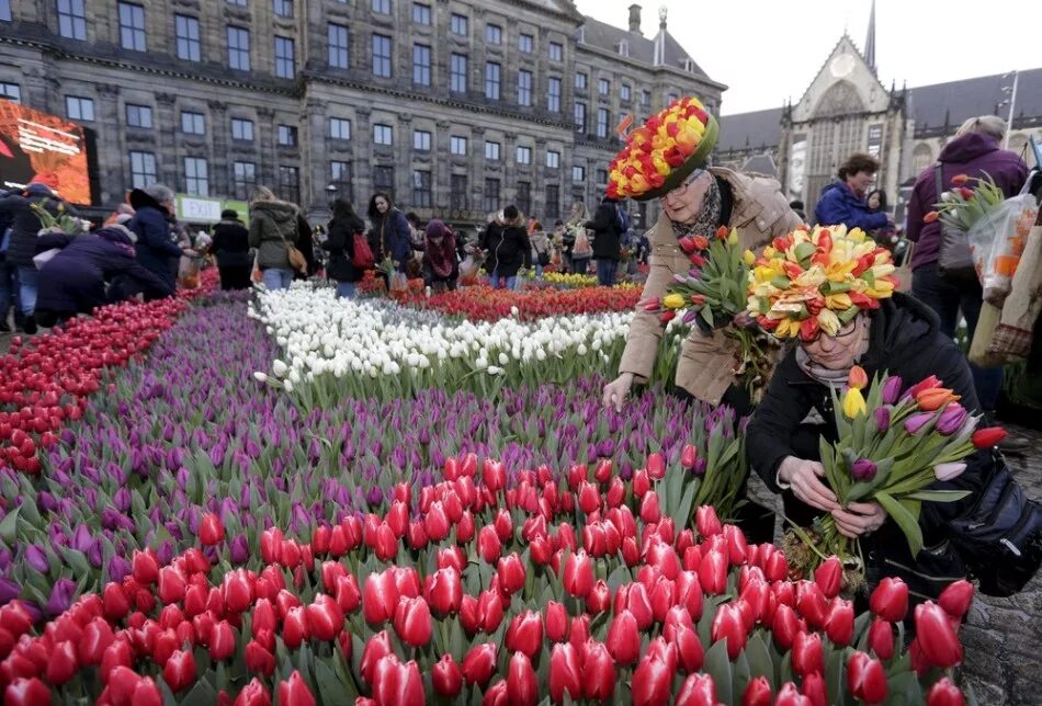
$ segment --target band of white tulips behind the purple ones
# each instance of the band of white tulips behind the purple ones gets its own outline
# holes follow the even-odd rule
[[[638,296],[612,294],[615,289],[587,292]],[[250,316],[283,351],[258,368],[259,377],[312,409],[349,397],[408,399],[429,388],[497,398],[511,388],[568,386],[580,375],[614,375],[632,308],[532,321],[512,314],[471,321],[383,299],[341,300],[328,288],[301,287],[261,295]],[[676,337],[683,331],[679,321],[667,328],[664,349],[672,355],[679,348]],[[661,357],[667,361],[669,355]]]

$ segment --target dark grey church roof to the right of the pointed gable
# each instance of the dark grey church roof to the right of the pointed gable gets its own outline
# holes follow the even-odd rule
[[[1013,77],[996,73],[909,89],[908,115],[915,119],[916,135],[943,133],[945,124],[958,127],[976,115],[1008,117],[1009,105],[1001,103],[1009,98],[1009,92],[1003,87],[1012,82]],[[1042,68],[1020,72],[1013,110],[1017,125],[1026,118],[1042,123]]]

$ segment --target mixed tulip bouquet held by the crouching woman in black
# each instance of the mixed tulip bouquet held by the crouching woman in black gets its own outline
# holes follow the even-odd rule
[[[997,428],[977,430],[979,417],[959,403],[959,396],[935,376],[907,389],[895,375],[876,376],[868,392],[868,376],[851,368],[848,387],[834,390],[836,442],[824,437],[822,465],[840,505],[877,502],[901,528],[913,556],[922,549],[919,515],[924,502],[953,502],[967,492],[937,489],[959,477],[965,458],[994,446],[1005,435]],[[841,535],[835,517],[825,515],[805,532],[793,530],[789,556],[799,569],[813,569],[828,556],[842,557],[851,568],[849,585],[861,583],[863,562],[857,542]]]

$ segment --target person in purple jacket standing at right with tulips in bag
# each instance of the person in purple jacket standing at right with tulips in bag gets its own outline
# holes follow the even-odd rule
[[[983,178],[987,172],[1007,197],[1020,193],[1028,179],[1028,166],[1013,152],[999,148],[1005,137],[1006,122],[997,115],[971,117],[963,123],[955,132],[955,138],[944,146],[938,157],[943,180],[941,191],[951,189],[951,179],[956,174]],[[954,338],[959,312],[962,311],[972,339],[984,298],[981,284],[955,284],[941,276],[937,269],[941,223],[922,223],[922,218],[933,210],[933,204],[937,203],[935,171],[935,164],[922,170],[908,201],[907,237],[916,243],[911,255],[911,293],[937,312],[941,319],[941,331],[949,338]],[[971,367],[981,407],[990,414],[1003,389],[1003,368],[984,369],[972,364]],[[1022,442],[1010,439],[1003,449],[1007,453],[1017,451],[1016,446]]]

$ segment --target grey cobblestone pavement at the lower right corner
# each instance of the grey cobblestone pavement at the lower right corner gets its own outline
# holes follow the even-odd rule
[[[1029,439],[1032,451],[1007,458],[1029,498],[1042,501],[1042,433],[1010,428]],[[752,475],[751,497],[781,510],[781,503]],[[958,677],[973,688],[981,706],[1042,704],[1042,572],[1008,599],[978,595],[960,633],[965,646]]]

